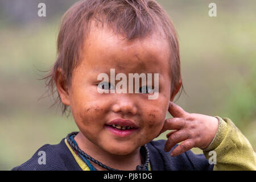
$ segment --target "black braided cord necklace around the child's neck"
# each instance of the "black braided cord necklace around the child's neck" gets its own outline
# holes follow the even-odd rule
[[[76,145],[75,143],[72,142],[71,140],[71,137],[75,137],[75,135],[77,135],[78,132],[72,132],[70,134],[67,135],[66,139],[69,143],[69,145],[73,148],[73,150],[75,150],[77,153],[81,154],[82,156],[84,156],[84,158],[86,159],[89,159],[91,162],[97,164],[98,166],[102,167],[102,168],[105,168],[105,169],[108,169],[109,171],[119,171],[119,169],[114,169],[114,168],[111,168],[109,166],[106,166],[105,164],[102,164],[101,162],[99,162],[98,160],[92,158],[91,156],[89,156],[88,154],[86,154],[84,151],[82,151],[78,145]],[[136,167],[136,169],[134,171],[148,171],[148,163],[150,161],[150,155],[149,155],[149,151],[148,151],[148,148],[147,148],[147,145],[144,144],[144,146],[141,147],[140,149],[140,152],[143,156],[143,164],[141,165],[138,165]]]

